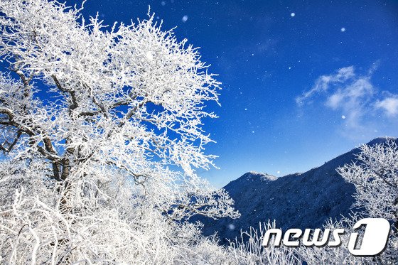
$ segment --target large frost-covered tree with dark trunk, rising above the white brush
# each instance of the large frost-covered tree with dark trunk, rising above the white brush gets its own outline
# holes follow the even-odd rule
[[[0,2],[0,58],[9,70],[0,75],[1,151],[14,161],[43,161],[38,175],[80,198],[63,194],[61,205],[83,202],[87,185],[97,196],[99,183],[120,174],[145,186],[146,196],[152,189],[154,205],[173,219],[236,217],[227,194],[195,175],[213,166],[202,126],[216,117],[205,104],[218,103],[220,90],[198,50],[162,31],[154,16],[104,26],[81,10]]]

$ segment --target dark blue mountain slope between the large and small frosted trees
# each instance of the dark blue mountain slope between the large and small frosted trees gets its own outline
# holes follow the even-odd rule
[[[385,140],[377,138],[368,144]],[[276,220],[276,226],[283,229],[321,227],[328,218],[339,219],[340,215],[350,212],[355,188],[353,184],[345,183],[335,168],[354,161],[357,152],[355,148],[323,166],[280,178],[262,173],[245,173],[225,186],[242,217],[237,220],[210,220],[205,217],[195,220],[204,223],[205,234],[217,232],[222,242],[225,242],[225,238],[237,237],[240,229],[258,227],[259,222],[269,219]]]

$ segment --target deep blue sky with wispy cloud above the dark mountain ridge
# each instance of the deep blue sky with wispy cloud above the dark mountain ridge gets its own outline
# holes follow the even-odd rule
[[[79,1],[67,1],[75,4]],[[219,75],[205,129],[221,187],[247,171],[303,172],[398,136],[398,1],[94,1],[106,23],[146,18],[200,47]]]

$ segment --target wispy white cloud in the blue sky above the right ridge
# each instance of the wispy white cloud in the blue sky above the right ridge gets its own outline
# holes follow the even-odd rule
[[[321,75],[311,87],[296,97],[300,107],[316,104],[317,108],[338,112],[344,130],[366,131],[377,127],[380,119],[391,119],[398,114],[398,94],[380,92],[372,85],[372,73],[377,69],[375,63],[365,75],[358,75],[355,67],[343,67],[331,75]],[[387,94],[383,97],[380,94]],[[374,129],[372,129],[374,131]]]

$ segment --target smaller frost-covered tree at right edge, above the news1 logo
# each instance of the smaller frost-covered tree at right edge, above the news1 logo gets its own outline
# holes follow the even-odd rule
[[[355,185],[355,205],[365,215],[385,218],[398,228],[398,146],[394,139],[362,145],[357,161],[337,169]]]

